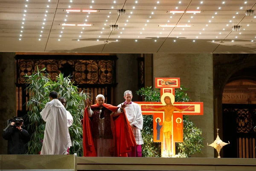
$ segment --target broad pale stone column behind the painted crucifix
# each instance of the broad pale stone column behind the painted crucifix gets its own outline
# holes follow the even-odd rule
[[[203,130],[203,154],[194,157],[214,157],[214,148],[208,147],[214,137],[213,113],[213,59],[212,54],[154,54],[153,77],[179,77],[180,84],[189,88],[192,101],[204,102],[203,116],[189,119]],[[153,78],[153,79],[154,79]]]

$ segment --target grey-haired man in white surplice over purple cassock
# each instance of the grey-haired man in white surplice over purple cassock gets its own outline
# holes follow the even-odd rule
[[[125,114],[130,122],[137,143],[137,146],[133,147],[131,152],[128,153],[128,157],[142,157],[141,145],[143,144],[143,139],[140,131],[143,128],[143,116],[140,105],[132,102],[132,97],[132,92],[130,90],[126,90],[124,93],[125,102],[119,104],[117,107],[121,107],[122,104],[127,104],[127,107],[124,109]]]

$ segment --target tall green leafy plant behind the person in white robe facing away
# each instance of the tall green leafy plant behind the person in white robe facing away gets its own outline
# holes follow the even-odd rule
[[[32,130],[31,140],[28,142],[28,154],[39,154],[42,148],[42,140],[44,139],[45,122],[41,118],[40,112],[44,108],[44,104],[49,102],[49,93],[51,91],[58,92],[60,97],[66,99],[66,109],[73,116],[73,125],[70,126],[69,132],[72,141],[70,154],[77,153],[83,156],[83,130],[81,119],[84,113],[84,100],[89,97],[87,93],[78,93],[78,87],[73,85],[70,76],[64,77],[59,74],[56,81],[52,81],[46,68],[33,72],[32,75],[25,75],[26,90],[29,93],[27,102],[28,114],[25,119],[28,121],[28,129]],[[41,102],[42,104],[35,103]]]

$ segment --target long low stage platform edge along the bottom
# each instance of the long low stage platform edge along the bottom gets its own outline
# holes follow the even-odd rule
[[[0,155],[0,171],[256,171],[256,159]]]

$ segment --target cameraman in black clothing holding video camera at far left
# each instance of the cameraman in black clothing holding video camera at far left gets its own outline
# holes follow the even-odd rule
[[[28,131],[22,129],[23,119],[15,117],[11,125],[3,130],[3,139],[8,140],[7,154],[26,154],[26,142],[30,136]]]

